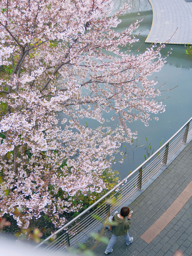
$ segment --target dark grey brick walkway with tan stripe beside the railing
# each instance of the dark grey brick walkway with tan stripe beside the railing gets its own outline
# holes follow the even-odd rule
[[[130,204],[130,236],[119,236],[110,256],[172,256],[176,250],[192,255],[192,141],[164,172]],[[162,217],[163,216],[163,217]],[[158,227],[158,229],[157,229]],[[154,231],[155,230],[155,231]],[[111,236],[104,233],[104,236]],[[106,255],[106,245],[89,239],[85,245]]]

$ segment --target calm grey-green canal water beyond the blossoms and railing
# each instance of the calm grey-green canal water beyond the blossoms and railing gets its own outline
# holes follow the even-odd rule
[[[113,0],[113,2],[114,8],[111,14],[118,11],[126,1]],[[135,35],[140,33],[140,43],[134,44],[132,49],[134,51],[141,45],[140,52],[143,52],[150,45],[144,43],[144,41],[152,25],[152,7],[148,0],[134,0],[132,6],[130,10],[127,10],[126,14],[120,17],[122,22],[117,30],[121,31],[135,20],[144,17],[139,28],[134,32]],[[139,16],[138,13],[140,13]],[[167,45],[163,49],[162,55],[166,55],[171,48],[173,49],[172,54],[167,57],[167,63],[161,71],[155,72],[151,76],[151,79],[158,81],[158,87],[164,84],[162,88],[164,91],[161,92],[159,100],[167,98],[163,101],[166,104],[166,111],[159,113],[157,115],[159,120],[152,119],[147,127],[140,121],[128,123],[128,127],[132,131],[138,131],[138,137],[133,145],[124,144],[126,148],[123,148],[126,149],[127,154],[122,164],[118,161],[119,156],[116,156],[116,162],[113,164],[112,169],[119,172],[120,179],[143,163],[145,156],[147,158],[152,155],[152,152],[159,148],[161,141],[161,145],[163,145],[192,116],[192,56],[185,54],[184,45]],[[175,86],[177,86],[175,89],[169,90]]]

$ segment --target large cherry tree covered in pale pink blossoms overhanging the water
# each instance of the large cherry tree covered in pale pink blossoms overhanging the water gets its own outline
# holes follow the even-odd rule
[[[140,21],[116,32],[128,5],[110,17],[112,8],[111,0],[1,0],[0,216],[20,227],[42,214],[62,226],[64,212],[82,207],[79,194],[105,188],[114,153],[137,136],[128,122],[148,125],[164,111],[150,80],[164,45],[131,53]]]

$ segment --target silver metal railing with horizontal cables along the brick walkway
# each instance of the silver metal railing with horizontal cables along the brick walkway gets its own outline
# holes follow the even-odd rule
[[[110,215],[110,211],[128,200],[135,191],[142,189],[145,184],[169,160],[192,135],[192,117],[177,131],[163,146],[153,153],[137,169],[119,182],[113,189],[103,195],[99,200],[73,218],[54,234],[47,237],[38,246],[45,244],[49,251],[65,251],[67,246],[76,244],[83,236],[89,233],[101,221]],[[123,186],[122,186],[123,185]],[[109,197],[111,201],[106,201]],[[116,203],[113,203],[116,201]],[[99,216],[98,220],[94,216]],[[46,244],[49,239],[54,241]]]

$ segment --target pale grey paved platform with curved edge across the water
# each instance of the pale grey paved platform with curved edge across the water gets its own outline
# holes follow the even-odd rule
[[[149,2],[153,10],[153,22],[146,43],[165,43],[174,34],[170,44],[192,44],[192,2],[186,0],[149,0]]]

